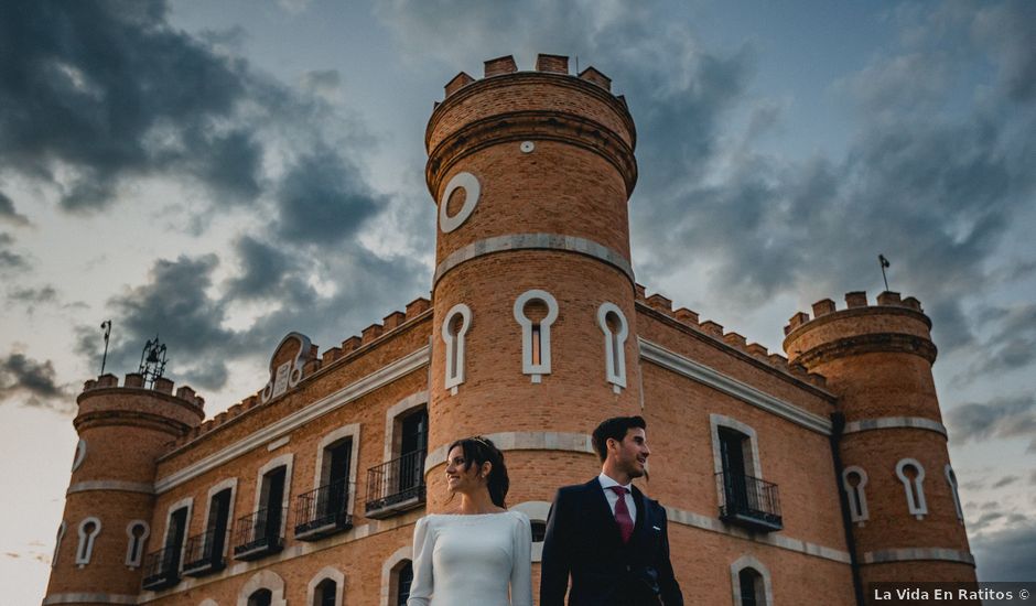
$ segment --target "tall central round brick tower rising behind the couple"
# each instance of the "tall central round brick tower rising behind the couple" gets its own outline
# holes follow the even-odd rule
[[[585,435],[640,410],[635,140],[611,80],[593,67],[569,75],[568,57],[539,55],[535,72],[500,57],[484,79],[461,73],[446,85],[425,134],[439,208],[430,511],[443,506],[440,464],[457,437],[496,435],[520,469],[511,486],[528,493],[508,500],[549,500],[533,477],[548,473],[543,451],[565,443],[550,468],[571,474],[549,486],[585,481],[596,466]]]

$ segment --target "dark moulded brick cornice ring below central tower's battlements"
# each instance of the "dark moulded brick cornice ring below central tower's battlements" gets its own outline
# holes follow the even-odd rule
[[[432,197],[438,197],[442,177],[461,159],[489,145],[528,139],[560,141],[601,155],[623,176],[627,196],[637,184],[633,148],[604,125],[555,110],[509,111],[465,125],[431,150],[424,178]]]

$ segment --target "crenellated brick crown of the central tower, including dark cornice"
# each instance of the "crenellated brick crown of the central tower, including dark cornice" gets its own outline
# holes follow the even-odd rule
[[[593,67],[570,74],[562,55],[539,55],[532,72],[519,72],[510,55],[485,62],[482,79],[461,72],[446,84],[425,131],[432,197],[465,153],[525,140],[564,141],[600,153],[622,173],[628,197],[637,178],[636,129],[625,98],[613,95],[611,85]]]

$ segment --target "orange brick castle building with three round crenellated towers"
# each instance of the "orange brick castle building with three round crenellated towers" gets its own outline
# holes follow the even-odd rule
[[[589,434],[619,414],[647,419],[638,485],[689,604],[974,581],[917,300],[820,301],[786,358],[647,296],[633,118],[566,57],[461,73],[425,142],[430,301],[324,351],[287,335],[269,382],[204,422],[166,379],[86,382],[43,604],[403,604],[414,522],[449,507],[445,447],[472,434],[505,451],[537,562],[554,490],[597,473]]]

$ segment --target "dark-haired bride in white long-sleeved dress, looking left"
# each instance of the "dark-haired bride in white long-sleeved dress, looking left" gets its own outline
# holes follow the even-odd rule
[[[418,520],[407,606],[532,606],[532,532],[525,513],[505,509],[504,453],[484,437],[454,442],[446,483],[461,504]]]

